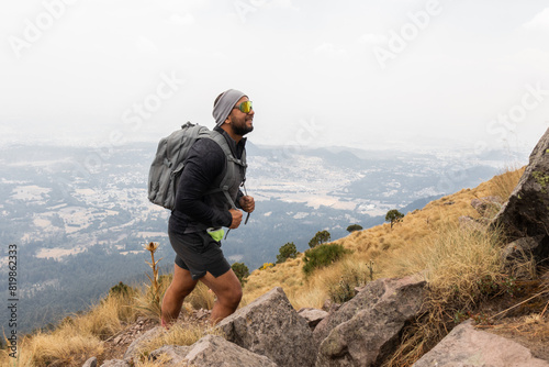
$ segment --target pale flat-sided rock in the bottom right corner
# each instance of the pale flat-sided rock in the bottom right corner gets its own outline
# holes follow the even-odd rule
[[[434,366],[549,367],[549,363],[534,358],[526,347],[505,337],[479,331],[471,321],[466,321],[413,365]]]

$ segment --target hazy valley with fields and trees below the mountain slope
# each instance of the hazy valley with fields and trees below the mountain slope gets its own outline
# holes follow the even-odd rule
[[[146,242],[160,243],[160,265],[171,269],[168,211],[146,196],[155,151],[155,144],[2,148],[0,264],[5,273],[8,245],[16,244],[22,331],[86,308],[119,281],[142,281]],[[390,209],[422,208],[477,186],[509,160],[527,163],[526,155],[493,158],[503,156],[508,157],[343,148],[290,154],[250,144],[246,187],[257,209],[246,226],[229,233],[223,249],[253,270],[274,262],[288,242],[304,251],[320,230],[339,238],[349,224],[380,224]],[[5,292],[7,285],[0,289]]]

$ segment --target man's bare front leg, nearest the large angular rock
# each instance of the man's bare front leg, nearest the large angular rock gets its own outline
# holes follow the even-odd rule
[[[233,269],[215,278],[210,273],[200,278],[217,297],[210,315],[210,323],[215,325],[236,311],[242,299],[240,281]]]

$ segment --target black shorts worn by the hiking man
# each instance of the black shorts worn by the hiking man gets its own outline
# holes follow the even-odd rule
[[[176,252],[176,265],[189,270],[191,277],[198,280],[210,273],[215,278],[231,270],[221,242],[213,240],[205,231],[176,234],[169,232],[171,247]]]

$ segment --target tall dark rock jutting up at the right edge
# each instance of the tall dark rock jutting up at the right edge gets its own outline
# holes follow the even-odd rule
[[[529,164],[509,199],[496,214],[492,225],[503,226],[511,241],[542,235],[534,255],[549,254],[549,130],[530,154]]]

